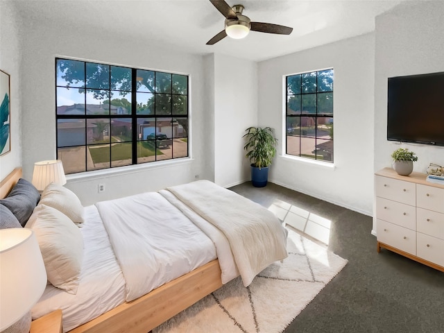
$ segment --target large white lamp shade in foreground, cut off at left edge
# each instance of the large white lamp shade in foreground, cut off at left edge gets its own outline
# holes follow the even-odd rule
[[[0,331],[19,321],[46,287],[46,271],[31,229],[0,230]]]

